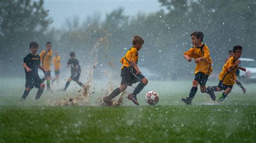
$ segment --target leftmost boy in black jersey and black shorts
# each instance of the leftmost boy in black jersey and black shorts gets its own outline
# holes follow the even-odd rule
[[[31,42],[29,44],[30,53],[23,59],[23,66],[26,74],[26,88],[22,100],[26,99],[33,87],[38,88],[35,100],[39,99],[44,91],[45,84],[38,76],[38,68],[44,72],[47,72],[47,70],[41,66],[40,56],[36,54],[38,47],[39,45],[36,42]]]

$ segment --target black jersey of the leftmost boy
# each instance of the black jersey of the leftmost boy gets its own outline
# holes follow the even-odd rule
[[[24,59],[23,63],[26,63],[26,65],[31,69],[30,72],[26,73],[26,79],[32,79],[32,78],[38,78],[38,66],[41,64],[40,62],[40,56],[39,55],[32,55],[32,53],[29,53]]]

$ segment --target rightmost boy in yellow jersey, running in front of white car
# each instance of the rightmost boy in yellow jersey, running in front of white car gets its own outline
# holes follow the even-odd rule
[[[224,90],[222,94],[220,94],[218,101],[223,101],[227,94],[231,92],[233,85],[235,84],[235,71],[240,69],[242,71],[246,71],[244,67],[238,66],[240,64],[239,58],[242,54],[242,46],[234,46],[233,47],[233,56],[229,58],[226,64],[223,66],[223,70],[219,74],[219,84],[218,86],[209,87],[213,91],[221,91]]]

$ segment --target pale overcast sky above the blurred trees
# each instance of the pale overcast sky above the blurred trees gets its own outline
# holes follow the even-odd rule
[[[44,8],[49,10],[53,19],[52,26],[61,28],[66,26],[66,19],[78,16],[83,22],[86,16],[99,13],[105,18],[106,13],[123,7],[125,14],[134,16],[138,12],[150,13],[160,9],[158,0],[45,0]]]

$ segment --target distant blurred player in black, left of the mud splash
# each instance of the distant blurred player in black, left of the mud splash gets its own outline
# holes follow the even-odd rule
[[[71,76],[68,79],[68,81],[66,81],[65,88],[62,91],[66,91],[66,88],[69,87],[69,84],[70,84],[71,80],[76,81],[76,83],[78,85],[83,87],[84,84],[79,81],[80,74],[81,74],[81,67],[80,67],[80,64],[79,64],[78,60],[75,58],[75,53],[74,52],[70,53],[70,59],[69,59],[69,62],[68,62],[66,67],[71,68]]]

